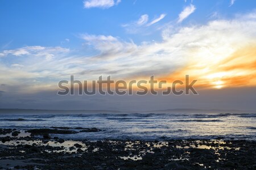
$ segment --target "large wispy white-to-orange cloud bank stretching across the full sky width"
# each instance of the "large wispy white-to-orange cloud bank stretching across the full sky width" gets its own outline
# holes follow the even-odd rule
[[[141,44],[110,35],[84,34],[80,37],[86,50],[75,54],[61,47],[4,50],[0,53],[13,58],[8,62],[5,59],[9,57],[1,58],[0,79],[13,86],[5,91],[24,93],[56,90],[57,82],[68,80],[70,75],[93,80],[100,75],[144,79],[154,74],[171,80],[189,74],[205,88],[256,86],[255,27],[256,18],[251,13],[167,28],[162,32],[162,40]],[[51,62],[36,57],[45,56],[44,53],[53,55]],[[16,67],[17,63],[24,67]],[[246,78],[250,79],[243,81]]]

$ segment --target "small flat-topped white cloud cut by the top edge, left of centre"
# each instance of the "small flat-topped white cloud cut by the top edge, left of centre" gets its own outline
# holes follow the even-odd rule
[[[87,0],[84,1],[85,8],[110,8],[112,6],[118,5],[121,0]]]

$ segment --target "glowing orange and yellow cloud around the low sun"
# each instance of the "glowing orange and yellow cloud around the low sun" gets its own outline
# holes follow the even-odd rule
[[[208,61],[207,56],[192,57],[185,67],[160,79],[184,80],[188,74],[191,80],[197,79],[195,85],[201,88],[256,86],[256,45],[240,48],[228,57],[216,58]]]

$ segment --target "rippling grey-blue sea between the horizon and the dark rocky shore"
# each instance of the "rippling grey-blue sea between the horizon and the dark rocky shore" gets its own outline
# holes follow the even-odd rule
[[[0,128],[98,128],[102,131],[55,134],[70,139],[256,139],[256,113],[1,113]]]

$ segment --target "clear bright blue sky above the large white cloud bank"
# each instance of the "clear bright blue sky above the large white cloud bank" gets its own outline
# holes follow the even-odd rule
[[[84,8],[83,1],[1,1],[0,2],[0,45],[2,49],[19,48],[24,45],[81,47],[80,33],[112,35],[134,42],[159,40],[160,31],[152,25],[143,33],[127,33],[123,24],[138,20],[147,14],[150,20],[166,14],[157,23],[173,22],[191,1],[122,1],[110,8]],[[205,23],[218,12],[221,18],[232,17],[235,12],[249,12],[255,1],[199,1],[192,3],[196,11],[184,20],[183,25]],[[229,7],[230,6],[230,7]],[[64,43],[69,39],[70,43]],[[8,45],[9,44],[9,45]]]

